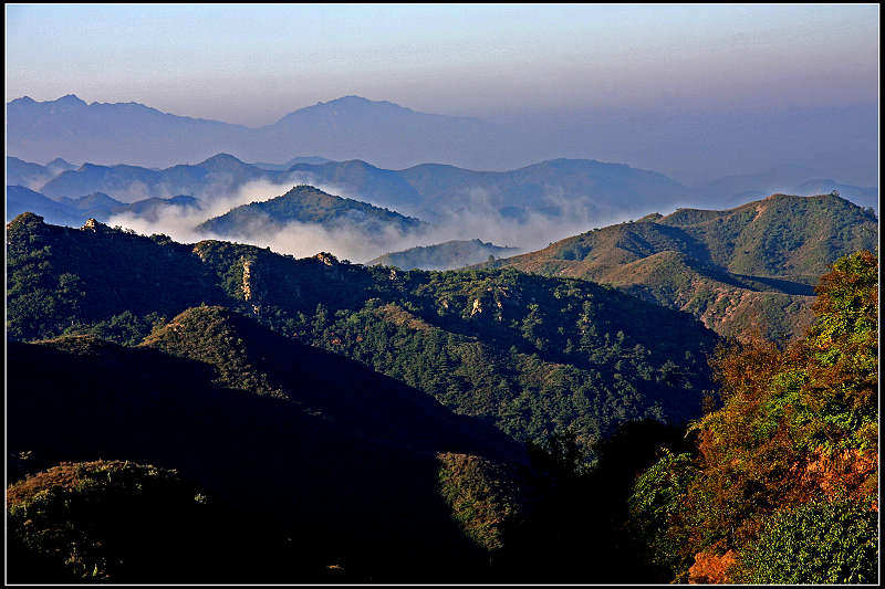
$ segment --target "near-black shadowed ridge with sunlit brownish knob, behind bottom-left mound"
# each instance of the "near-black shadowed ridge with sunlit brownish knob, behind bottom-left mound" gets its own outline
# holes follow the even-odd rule
[[[342,554],[357,572],[372,559],[375,574],[408,578],[441,551],[462,559],[452,571],[462,574],[478,553],[437,494],[437,454],[522,460],[491,425],[221,307],[189,309],[137,347],[92,336],[10,343],[9,362],[9,450],[28,456],[11,481],[96,456],[176,469],[223,505],[288,529],[289,580],[320,576]],[[202,572],[227,580],[225,568]]]

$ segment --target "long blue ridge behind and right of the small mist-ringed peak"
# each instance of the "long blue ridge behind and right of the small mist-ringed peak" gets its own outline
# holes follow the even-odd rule
[[[438,164],[395,171],[363,161],[302,164],[290,171],[428,221],[470,214],[514,221],[534,215],[591,220],[662,202],[676,204],[690,192],[657,172],[585,159],[555,159],[503,172]]]

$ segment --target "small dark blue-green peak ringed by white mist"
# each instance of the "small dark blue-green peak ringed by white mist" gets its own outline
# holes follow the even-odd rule
[[[387,209],[329,194],[312,186],[296,186],[277,198],[237,207],[196,229],[216,235],[250,238],[281,231],[292,222],[316,223],[333,231],[360,231],[367,239],[389,231],[404,235],[427,227],[418,219]]]

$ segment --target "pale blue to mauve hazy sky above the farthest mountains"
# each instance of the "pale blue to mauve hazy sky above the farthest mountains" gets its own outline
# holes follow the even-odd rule
[[[249,126],[348,94],[509,120],[878,101],[878,7],[7,6],[7,99]]]

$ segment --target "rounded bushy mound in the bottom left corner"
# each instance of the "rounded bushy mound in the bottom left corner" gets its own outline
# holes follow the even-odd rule
[[[282,540],[279,528],[155,465],[63,463],[7,487],[12,583],[200,582],[218,571],[230,581],[249,579],[249,568],[272,578],[283,559],[290,577],[319,578],[322,558],[311,562]]]

